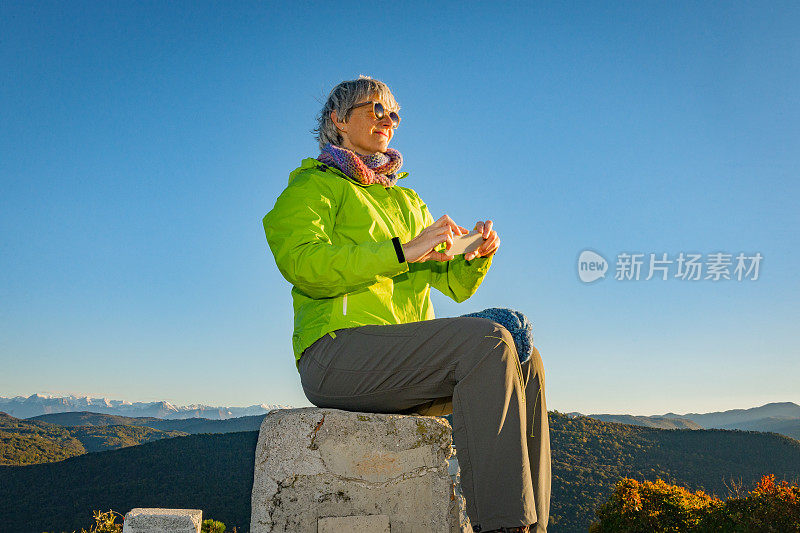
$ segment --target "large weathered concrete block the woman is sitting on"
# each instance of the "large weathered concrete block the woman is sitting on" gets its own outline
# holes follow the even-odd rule
[[[391,533],[471,532],[448,473],[451,435],[438,417],[273,411],[256,447],[250,531],[318,533],[319,519],[386,515]]]

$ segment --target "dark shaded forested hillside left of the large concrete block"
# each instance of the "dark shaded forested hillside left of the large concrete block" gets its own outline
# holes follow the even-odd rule
[[[89,529],[93,510],[202,509],[247,531],[258,432],[189,435],[72,457],[0,466],[2,531]]]

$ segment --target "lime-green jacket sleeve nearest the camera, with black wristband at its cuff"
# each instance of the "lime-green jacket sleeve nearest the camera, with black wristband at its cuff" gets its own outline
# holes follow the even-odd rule
[[[264,217],[264,232],[286,280],[311,298],[332,298],[368,287],[380,276],[408,272],[391,239],[333,244],[336,197],[319,177],[300,175]]]

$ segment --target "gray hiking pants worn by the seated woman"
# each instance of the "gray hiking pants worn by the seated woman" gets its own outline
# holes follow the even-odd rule
[[[550,429],[538,350],[520,365],[506,328],[485,318],[437,318],[338,329],[300,358],[318,407],[453,414],[467,515],[483,531],[550,513]],[[480,529],[476,529],[480,531]]]

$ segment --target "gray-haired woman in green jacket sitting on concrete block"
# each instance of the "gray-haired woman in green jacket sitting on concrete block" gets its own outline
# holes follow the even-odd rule
[[[293,285],[292,344],[306,397],[319,407],[445,415],[475,531],[544,533],[550,436],[538,351],[520,364],[509,331],[485,318],[435,318],[433,286],[463,302],[500,246],[447,254],[468,233],[434,220],[397,184],[389,148],[399,106],[382,82],[360,77],[331,91],[318,118],[321,154],[304,159],[264,217],[281,274]],[[530,427],[530,431],[528,431]],[[533,525],[535,524],[535,526]]]

